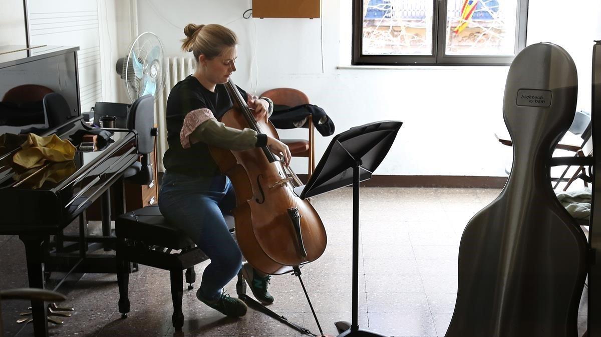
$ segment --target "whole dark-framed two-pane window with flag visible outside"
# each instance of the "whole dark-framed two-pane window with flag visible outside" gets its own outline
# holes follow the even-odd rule
[[[353,0],[353,64],[508,65],[528,0]]]

